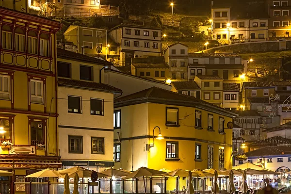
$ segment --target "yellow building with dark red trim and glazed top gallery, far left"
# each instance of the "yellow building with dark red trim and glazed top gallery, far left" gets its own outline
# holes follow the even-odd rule
[[[35,169],[62,166],[55,76],[61,24],[2,7],[0,16],[0,169],[14,166],[24,182]]]

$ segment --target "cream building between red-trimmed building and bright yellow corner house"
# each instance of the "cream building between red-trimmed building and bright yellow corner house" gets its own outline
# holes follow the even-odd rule
[[[64,168],[95,171],[113,162],[113,95],[120,89],[102,83],[100,71],[110,65],[64,49],[58,52],[58,132]]]

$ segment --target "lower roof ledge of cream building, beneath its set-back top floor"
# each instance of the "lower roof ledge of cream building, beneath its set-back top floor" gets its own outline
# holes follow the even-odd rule
[[[122,90],[115,88],[111,85],[107,85],[104,83],[90,82],[90,81],[70,80],[70,79],[58,78],[58,85],[59,86],[82,88],[82,89],[97,90],[97,91],[122,93]]]

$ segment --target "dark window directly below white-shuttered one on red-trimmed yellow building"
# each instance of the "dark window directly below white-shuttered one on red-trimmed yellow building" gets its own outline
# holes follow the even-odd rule
[[[42,121],[31,122],[31,145],[44,144],[44,126]]]

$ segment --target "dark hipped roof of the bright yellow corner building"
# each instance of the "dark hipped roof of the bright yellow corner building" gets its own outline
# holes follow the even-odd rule
[[[197,99],[196,97],[178,94],[176,92],[164,90],[158,87],[151,87],[125,97],[114,99],[114,107],[129,106],[147,102],[197,107],[200,109],[208,110],[210,112],[216,111],[228,117],[237,116],[236,113],[227,111],[224,108],[220,108],[204,100]]]

